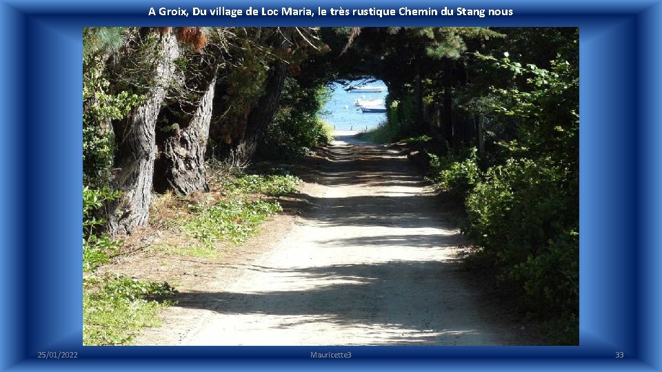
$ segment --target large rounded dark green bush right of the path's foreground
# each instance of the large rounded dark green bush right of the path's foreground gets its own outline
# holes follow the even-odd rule
[[[576,313],[579,303],[579,213],[568,176],[551,161],[510,159],[488,169],[465,203],[465,232],[539,314]]]

